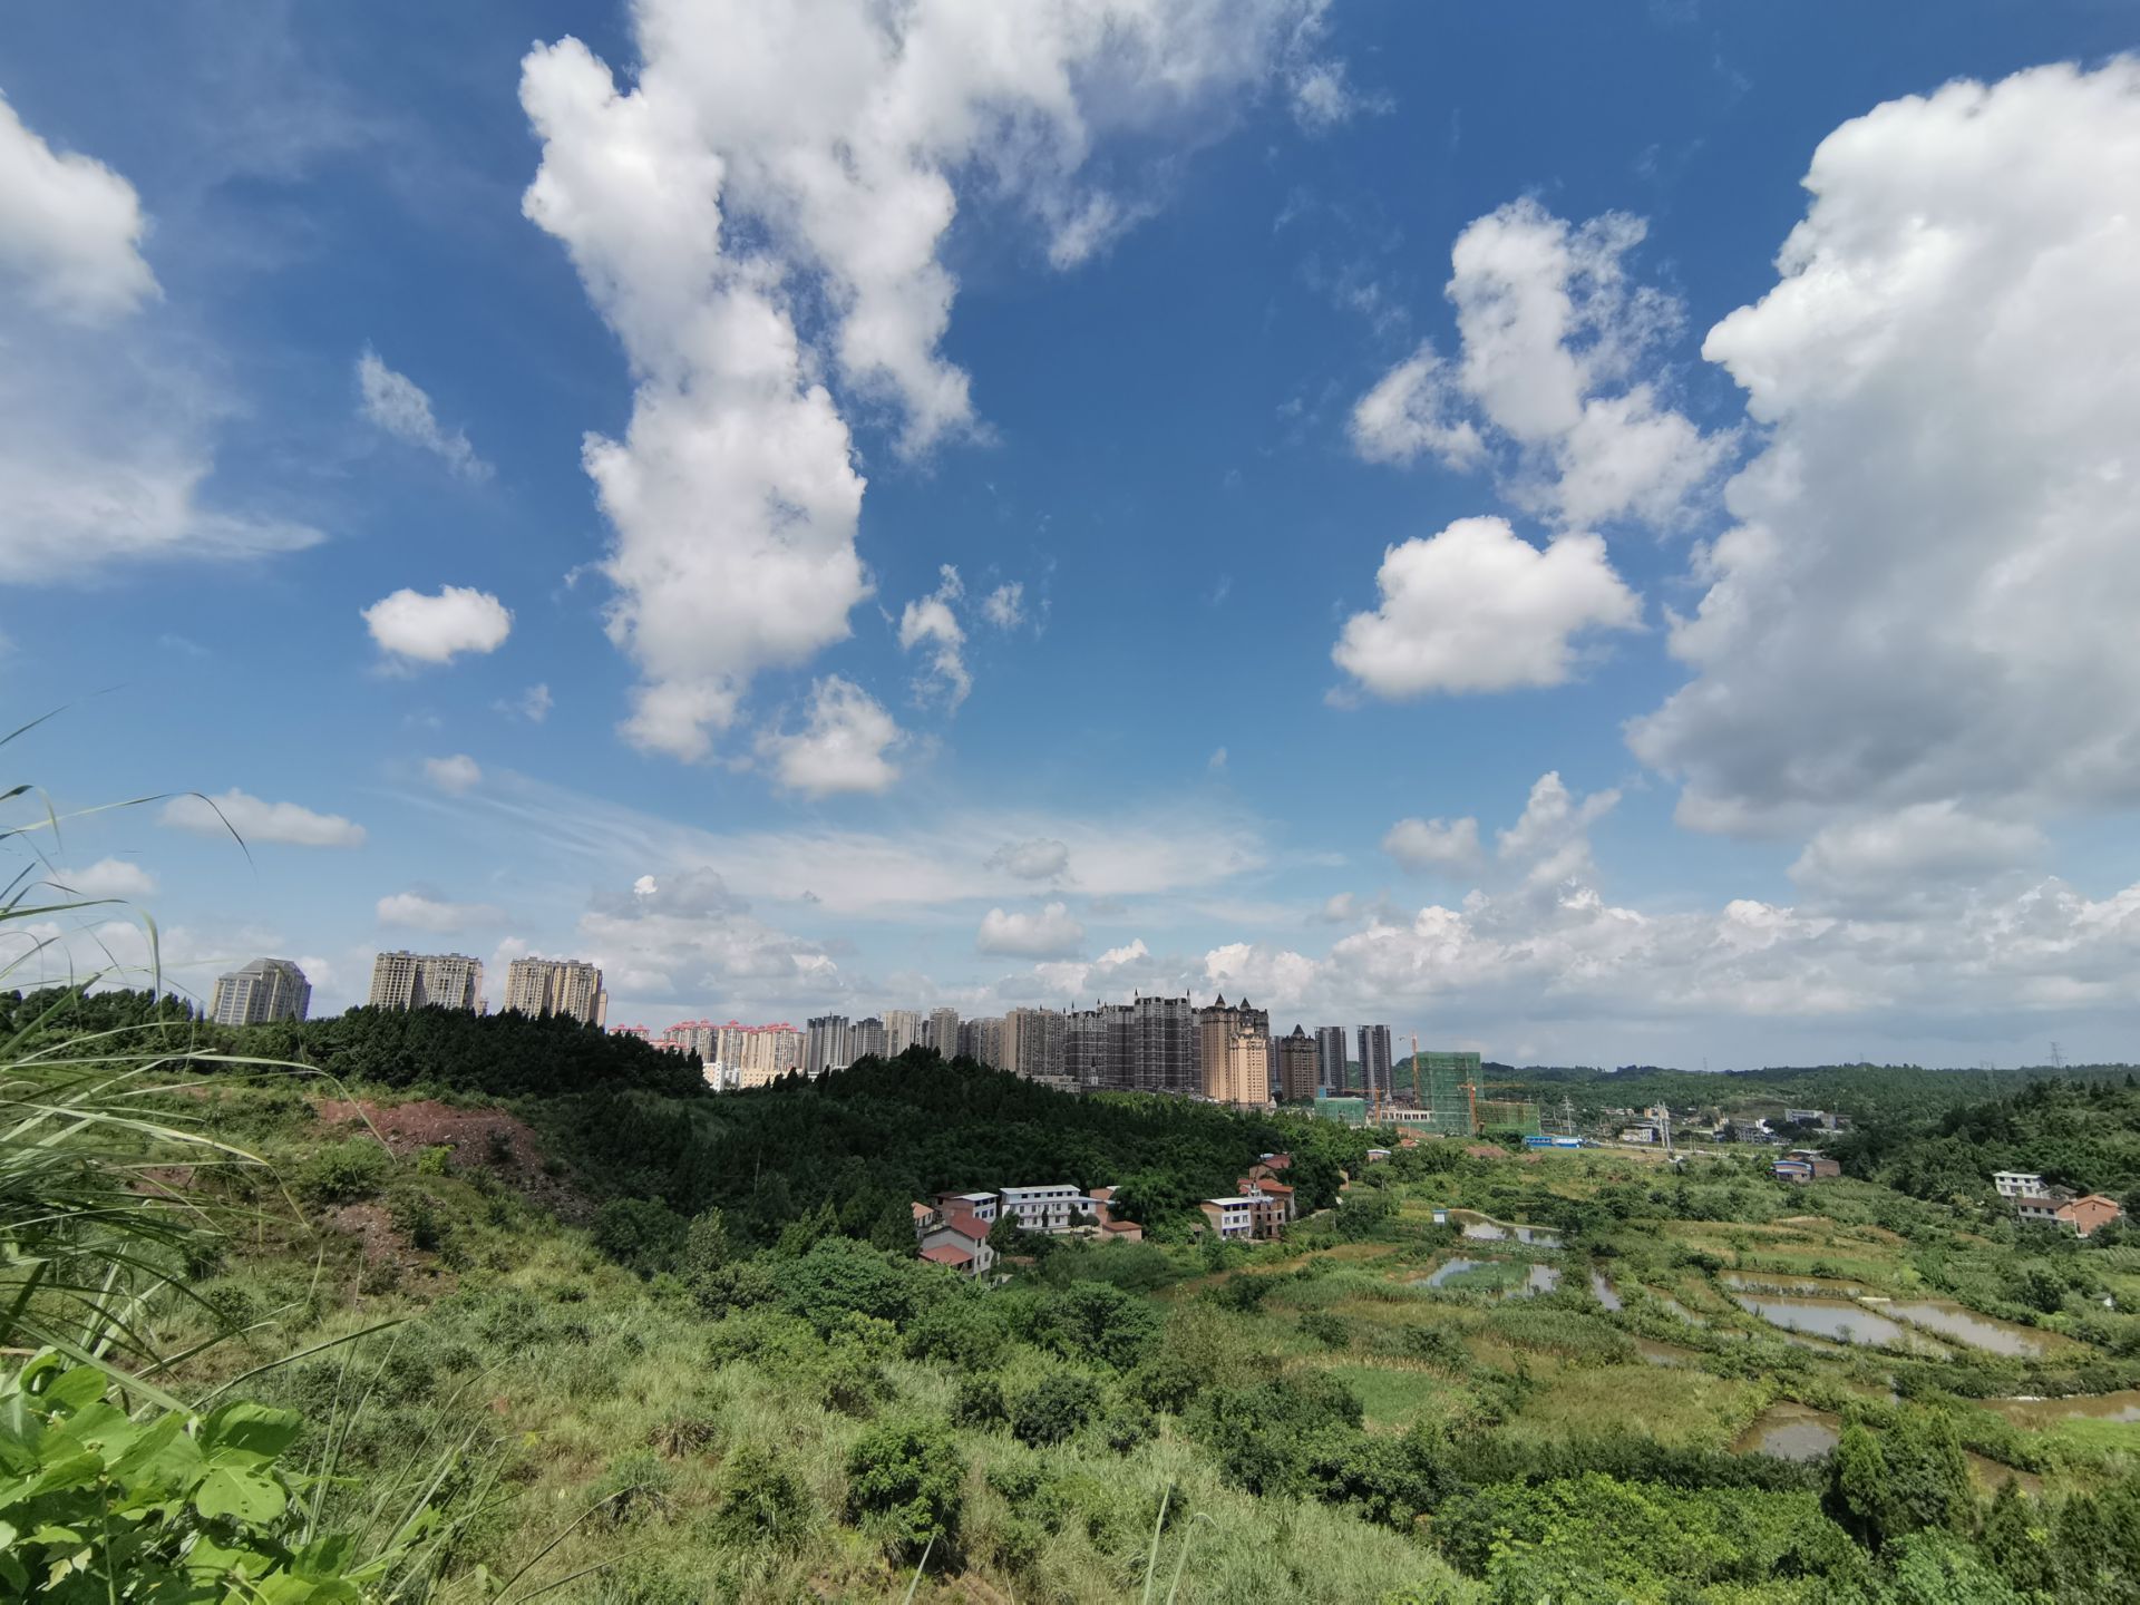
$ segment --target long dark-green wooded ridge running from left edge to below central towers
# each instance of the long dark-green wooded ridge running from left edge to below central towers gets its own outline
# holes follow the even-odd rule
[[[1196,1218],[1196,1201],[1230,1194],[1269,1151],[1295,1156],[1299,1203],[1320,1209],[1335,1198],[1340,1171],[1357,1171],[1374,1141],[1305,1115],[1138,1094],[1081,1098],[927,1049],[715,1096],[698,1059],[574,1021],[353,1008],[220,1029],[152,993],[0,993],[0,1029],[11,1034],[143,1023],[173,1046],[317,1068],[357,1096],[507,1104],[597,1201],[642,1201],[678,1220],[721,1209],[730,1233],[760,1245],[811,1220],[907,1248],[916,1198],[1061,1181],[1119,1186],[1124,1213],[1179,1226]]]

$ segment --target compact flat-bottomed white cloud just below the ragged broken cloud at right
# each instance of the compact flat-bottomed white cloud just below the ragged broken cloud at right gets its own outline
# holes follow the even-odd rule
[[[1331,657],[1385,698],[1564,685],[1584,636],[1641,627],[1603,539],[1560,535],[1541,552],[1502,518],[1391,546],[1376,584],[1380,606],[1346,621]]]

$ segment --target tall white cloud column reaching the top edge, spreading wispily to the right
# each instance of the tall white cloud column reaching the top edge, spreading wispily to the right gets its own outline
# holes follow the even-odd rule
[[[571,253],[633,370],[623,439],[582,460],[614,546],[631,740],[702,758],[753,676],[850,633],[862,475],[850,402],[907,454],[976,428],[942,355],[954,175],[1070,265],[1141,205],[1083,182],[1098,139],[1213,124],[1305,71],[1323,0],[644,0],[618,86],[576,39],[522,62],[541,141],[526,216]],[[809,304],[815,345],[798,334]]]

